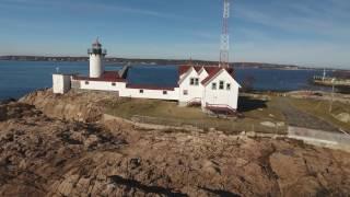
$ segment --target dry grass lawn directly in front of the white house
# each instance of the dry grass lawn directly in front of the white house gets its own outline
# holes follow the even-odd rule
[[[184,126],[192,125],[199,128],[217,128],[225,132],[259,131],[284,134],[287,127],[268,128],[261,121],[284,121],[284,117],[275,106],[275,99],[241,99],[244,118],[219,119],[209,117],[200,107],[178,107],[176,102],[160,100],[119,99],[106,101],[106,114],[131,119],[136,115],[153,118],[142,119],[143,123]],[[258,105],[256,105],[258,104]]]

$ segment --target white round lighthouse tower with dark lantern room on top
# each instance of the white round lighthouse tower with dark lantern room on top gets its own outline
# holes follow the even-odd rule
[[[90,56],[90,78],[100,78],[104,72],[103,58],[106,56],[107,50],[102,49],[98,38],[92,44],[92,48],[88,50]]]

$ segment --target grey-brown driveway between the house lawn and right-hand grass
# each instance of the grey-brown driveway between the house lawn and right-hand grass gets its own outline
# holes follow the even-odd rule
[[[331,124],[316,116],[298,109],[289,102],[287,97],[280,97],[278,100],[278,105],[282,111],[283,115],[285,116],[287,121],[290,126],[327,131],[339,131],[339,129],[332,126]]]

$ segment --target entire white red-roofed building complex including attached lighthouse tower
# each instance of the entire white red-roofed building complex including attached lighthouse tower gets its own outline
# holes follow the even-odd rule
[[[119,71],[105,71],[103,58],[106,50],[96,40],[90,55],[90,76],[52,74],[52,90],[65,94],[70,89],[109,91],[116,96],[177,101],[179,106],[200,105],[205,112],[234,114],[237,109],[241,85],[232,68],[219,66],[179,66],[178,82],[174,86],[128,83],[129,66]]]

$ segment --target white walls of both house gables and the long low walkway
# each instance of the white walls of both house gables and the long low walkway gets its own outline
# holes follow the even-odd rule
[[[228,71],[222,70],[219,76],[211,80],[206,86],[201,84],[201,79],[198,85],[190,85],[191,78],[203,78],[208,73],[198,76],[195,69],[191,69],[189,73],[180,82],[179,88],[175,88],[174,91],[166,90],[166,94],[163,94],[163,90],[148,90],[142,89],[127,89],[126,82],[115,82],[116,85],[112,85],[113,82],[105,81],[80,81],[80,86],[83,90],[101,90],[101,91],[115,91],[122,97],[138,97],[138,99],[154,99],[154,100],[170,100],[178,101],[180,103],[187,103],[194,99],[201,99],[202,106],[206,103],[212,105],[229,105],[230,107],[237,109],[238,102],[238,90],[240,84],[228,73]],[[224,81],[224,89],[219,90],[219,82]],[[212,90],[212,83],[217,83],[217,90]],[[226,84],[231,84],[231,90],[226,90]],[[59,84],[59,83],[58,83]],[[54,85],[55,86],[55,85]],[[184,90],[188,91],[188,95],[184,95]]]

